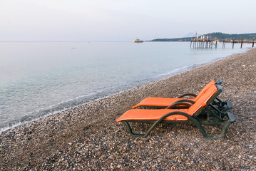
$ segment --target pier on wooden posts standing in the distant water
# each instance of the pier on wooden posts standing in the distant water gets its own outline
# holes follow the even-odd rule
[[[252,43],[253,48],[256,41],[216,39],[205,38],[205,36],[201,36],[201,38],[194,38],[190,41],[190,48],[217,48],[219,43],[222,43],[222,48],[225,48],[226,43],[232,43],[232,48],[234,48],[235,43],[240,43],[240,48],[242,48],[243,43]]]

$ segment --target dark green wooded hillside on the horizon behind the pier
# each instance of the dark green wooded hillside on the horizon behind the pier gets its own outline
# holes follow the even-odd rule
[[[256,40],[256,33],[242,33],[242,34],[227,34],[227,33],[208,33],[202,36],[213,38],[213,39],[230,39],[230,40]],[[152,41],[191,41],[191,39],[196,37],[185,37],[185,38],[156,38]]]

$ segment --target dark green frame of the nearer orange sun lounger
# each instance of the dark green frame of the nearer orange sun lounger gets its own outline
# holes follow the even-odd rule
[[[128,133],[130,133],[133,137],[140,137],[146,138],[151,133],[151,131],[159,124],[159,123],[194,123],[200,133],[202,133],[204,138],[208,139],[219,139],[224,138],[225,134],[227,133],[227,128],[230,126],[231,123],[235,122],[235,117],[232,113],[227,111],[221,111],[218,108],[215,108],[214,105],[211,103],[217,95],[222,92],[222,87],[220,85],[215,85],[217,87],[217,92],[208,100],[207,105],[203,108],[200,108],[194,115],[188,115],[188,113],[174,111],[163,115],[158,120],[123,120],[121,121],[126,125]],[[169,108],[175,108],[179,105],[190,105],[185,102],[178,102],[174,103],[173,105],[169,106]],[[135,110],[135,109],[134,109]],[[170,115],[183,115],[188,118],[188,120],[164,120],[165,118],[169,117]],[[133,130],[130,128],[129,123],[153,123],[150,128],[146,131],[145,134],[137,134],[133,133]],[[222,130],[219,135],[209,135],[205,132],[205,129],[202,125],[223,125]]]

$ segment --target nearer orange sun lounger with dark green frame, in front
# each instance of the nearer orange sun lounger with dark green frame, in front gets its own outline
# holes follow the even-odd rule
[[[194,123],[203,134],[210,139],[223,138],[227,128],[235,122],[235,117],[230,112],[222,112],[215,108],[207,108],[210,103],[222,92],[220,85],[212,85],[194,104],[178,102],[168,109],[131,109],[126,111],[117,122],[126,125],[128,133],[133,137],[146,138],[158,123]],[[187,109],[173,109],[175,105],[188,105]],[[207,110],[205,110],[207,108]],[[201,115],[204,113],[203,115]],[[133,133],[129,123],[153,123],[145,134]],[[219,135],[208,135],[202,125],[223,125]]]

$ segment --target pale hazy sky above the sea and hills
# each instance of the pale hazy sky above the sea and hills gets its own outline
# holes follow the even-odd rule
[[[256,33],[255,0],[0,0],[0,41],[144,41]]]

